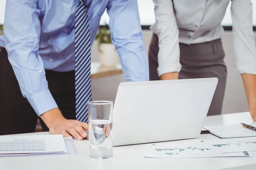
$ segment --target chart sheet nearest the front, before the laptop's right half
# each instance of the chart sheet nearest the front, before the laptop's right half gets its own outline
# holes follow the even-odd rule
[[[218,153],[214,147],[197,144],[148,144],[144,157],[149,158],[210,158],[210,157],[252,157],[251,153]]]

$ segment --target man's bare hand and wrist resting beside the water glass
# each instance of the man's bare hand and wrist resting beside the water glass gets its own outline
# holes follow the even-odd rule
[[[83,140],[87,136],[88,124],[77,120],[65,119],[58,108],[52,109],[40,115],[52,134],[61,134],[64,137],[74,136],[77,140]]]

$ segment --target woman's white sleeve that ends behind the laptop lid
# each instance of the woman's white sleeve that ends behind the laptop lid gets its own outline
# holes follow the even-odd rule
[[[153,0],[159,38],[158,75],[180,72],[179,30],[172,0]]]

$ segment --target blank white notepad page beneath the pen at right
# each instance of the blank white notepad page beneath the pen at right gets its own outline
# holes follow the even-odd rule
[[[256,124],[251,124],[256,126]],[[204,126],[215,136],[220,138],[240,138],[240,137],[252,137],[256,136],[256,132],[245,127],[241,124],[226,125],[226,126]]]

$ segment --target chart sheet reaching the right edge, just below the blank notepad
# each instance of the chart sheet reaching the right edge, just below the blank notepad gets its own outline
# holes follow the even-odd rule
[[[217,150],[218,153],[250,152],[256,151],[256,137],[230,138],[230,139],[212,139],[197,142]]]

